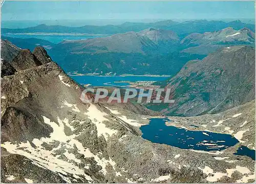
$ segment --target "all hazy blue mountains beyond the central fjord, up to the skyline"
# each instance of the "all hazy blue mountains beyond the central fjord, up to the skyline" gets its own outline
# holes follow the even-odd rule
[[[109,29],[110,27],[115,29]],[[145,29],[142,30],[143,28]],[[101,31],[101,34],[128,32],[87,40],[66,40],[58,44],[36,38],[3,38],[22,49],[33,50],[37,45],[41,45],[66,72],[101,75],[110,72],[117,75],[175,75],[187,61],[203,59],[223,47],[254,47],[255,38],[254,25],[244,24],[239,20],[228,23],[207,20],[182,23],[172,20],[155,23],[125,22],[119,26],[79,28],[39,25],[26,29],[2,29],[2,32],[99,34],[97,30]]]

